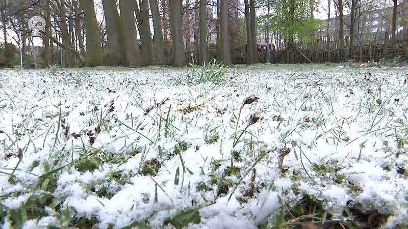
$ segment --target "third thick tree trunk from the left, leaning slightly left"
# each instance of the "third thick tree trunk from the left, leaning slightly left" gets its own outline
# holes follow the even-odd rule
[[[129,67],[142,67],[142,55],[139,49],[139,42],[136,34],[135,17],[133,14],[134,3],[129,0],[119,0],[120,21],[126,45],[126,61]]]

